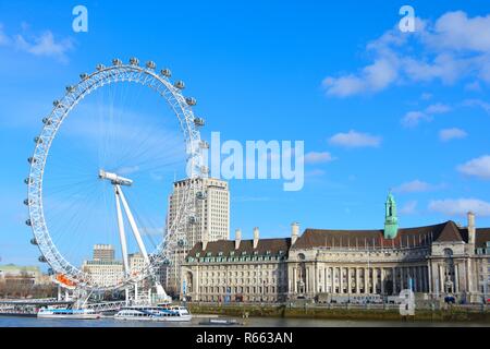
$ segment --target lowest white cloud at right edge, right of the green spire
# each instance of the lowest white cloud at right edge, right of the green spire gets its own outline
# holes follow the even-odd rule
[[[434,200],[429,209],[448,216],[464,216],[469,210],[478,216],[490,216],[490,203],[478,198]]]

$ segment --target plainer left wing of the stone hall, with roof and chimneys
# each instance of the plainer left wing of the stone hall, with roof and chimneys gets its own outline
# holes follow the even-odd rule
[[[181,297],[189,301],[278,302],[287,298],[291,239],[197,243],[182,267]]]

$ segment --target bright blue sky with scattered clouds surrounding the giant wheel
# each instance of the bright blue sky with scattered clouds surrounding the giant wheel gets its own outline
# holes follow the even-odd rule
[[[64,86],[115,57],[186,82],[203,136],[303,140],[305,188],[230,182],[231,230],[381,228],[393,189],[403,227],[477,213],[490,226],[488,1],[73,1],[0,4],[0,256],[36,263],[23,179],[32,139]],[[403,4],[416,32],[396,29]],[[233,234],[233,232],[232,232]]]

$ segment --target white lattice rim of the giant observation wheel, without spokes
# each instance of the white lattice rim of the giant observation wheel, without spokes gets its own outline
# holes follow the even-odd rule
[[[78,287],[85,289],[119,289],[130,282],[139,281],[149,276],[154,270],[155,264],[167,258],[167,252],[171,242],[169,239],[163,240],[156,251],[151,254],[151,264],[146,266],[139,275],[130,275],[119,285],[101,286],[90,284],[85,272],[70,263],[63,254],[58,250],[49,234],[48,224],[45,219],[42,183],[46,160],[49,151],[54,141],[63,121],[70,116],[71,111],[86,96],[105,85],[121,82],[133,82],[149,87],[163,97],[168,105],[171,106],[173,113],[179,119],[180,129],[183,132],[183,142],[185,143],[185,153],[187,156],[187,176],[192,179],[203,176],[203,154],[200,148],[200,133],[195,118],[192,105],[193,98],[185,98],[181,88],[174,86],[169,76],[157,74],[155,72],[155,63],[147,63],[146,68],[139,67],[136,60],[131,60],[130,64],[122,64],[121,61],[114,60],[113,65],[98,65],[97,70],[91,74],[82,74],[81,81],[74,85],[66,87],[63,98],[54,101],[54,107],[47,118],[44,119],[45,125],[38,137],[36,137],[36,147],[34,155],[29,158],[30,169],[27,184],[27,205],[29,210],[28,225],[34,233],[34,241],[38,245],[42,257],[51,266],[54,273],[65,275]],[[150,64],[152,63],[152,64]],[[191,99],[191,103],[189,103]],[[201,125],[201,124],[200,124]],[[183,201],[182,212],[173,221],[172,230],[177,230],[179,226],[189,215],[188,201],[191,200],[191,191],[187,191]]]

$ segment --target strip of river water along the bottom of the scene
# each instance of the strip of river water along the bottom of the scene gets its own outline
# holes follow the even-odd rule
[[[226,317],[230,318],[230,317]],[[46,320],[36,317],[0,316],[0,327],[206,327],[199,325],[205,317],[191,323],[157,323],[138,321],[100,320]],[[244,320],[240,318],[240,322]],[[490,327],[489,323],[403,322],[403,321],[346,321],[250,317],[244,326],[250,327]],[[211,326],[212,327],[212,326]]]

